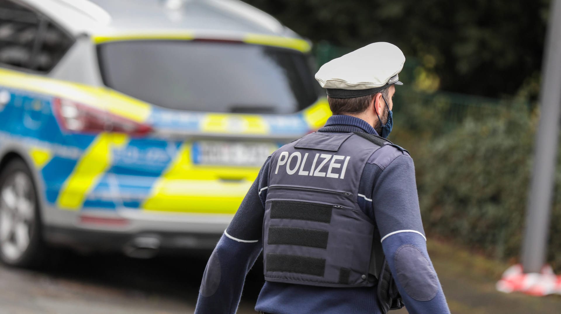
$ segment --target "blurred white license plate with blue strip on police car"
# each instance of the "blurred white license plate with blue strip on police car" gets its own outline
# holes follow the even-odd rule
[[[260,167],[278,148],[273,143],[201,140],[193,143],[192,158],[197,165]]]

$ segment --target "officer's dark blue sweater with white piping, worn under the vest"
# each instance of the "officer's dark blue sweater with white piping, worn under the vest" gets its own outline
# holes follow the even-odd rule
[[[334,115],[318,132],[376,134],[366,121]],[[360,148],[357,148],[360,149]],[[247,271],[262,249],[269,160],[243,199],[206,266],[195,313],[235,313]],[[360,181],[361,210],[376,222],[384,254],[407,310],[449,313],[426,251],[413,160],[386,145],[373,153]],[[284,313],[379,313],[376,287],[331,288],[265,282],[255,310]]]

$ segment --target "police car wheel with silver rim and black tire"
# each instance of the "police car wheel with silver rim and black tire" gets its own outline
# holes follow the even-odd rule
[[[24,161],[14,159],[0,172],[0,260],[33,268],[42,263],[39,202],[33,176]]]

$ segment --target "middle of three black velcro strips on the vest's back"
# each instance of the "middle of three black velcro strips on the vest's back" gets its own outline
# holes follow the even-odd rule
[[[327,249],[328,236],[328,231],[292,227],[269,227],[267,244],[299,245]]]

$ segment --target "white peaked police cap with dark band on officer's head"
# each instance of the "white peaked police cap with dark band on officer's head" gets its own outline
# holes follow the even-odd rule
[[[398,73],[405,56],[396,45],[373,43],[321,66],[316,81],[333,98],[372,95],[388,85],[403,85]]]

